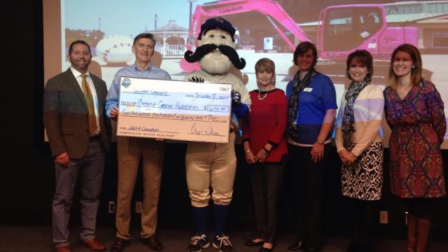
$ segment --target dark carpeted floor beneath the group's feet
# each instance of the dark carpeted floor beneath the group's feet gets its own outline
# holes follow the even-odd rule
[[[71,248],[73,252],[88,252],[78,239],[79,228],[71,228]],[[165,252],[183,252],[190,241],[190,232],[161,230],[158,238],[165,246]],[[210,234],[212,235],[212,234]],[[244,246],[246,239],[253,238],[252,232],[230,232],[229,237],[236,252],[256,252],[258,248]],[[103,241],[109,251],[115,231],[113,228],[100,227],[97,230],[97,239]],[[295,239],[293,235],[278,235],[274,251],[288,251],[288,245]],[[330,237],[326,240],[321,252],[345,252],[349,244],[348,239]],[[51,252],[54,251],[51,244],[50,227],[0,227],[0,252]],[[139,231],[132,231],[132,242],[125,248],[125,252],[150,252],[151,249],[139,242]],[[210,246],[204,252],[216,252],[216,248]],[[403,252],[405,241],[398,240],[374,240],[375,252]],[[427,252],[447,252],[448,242],[433,242]]]

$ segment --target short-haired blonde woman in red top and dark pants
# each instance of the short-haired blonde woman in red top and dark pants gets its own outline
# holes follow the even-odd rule
[[[255,64],[258,90],[249,92],[252,105],[243,126],[246,161],[251,167],[253,201],[258,237],[246,246],[261,246],[272,251],[276,230],[276,204],[283,175],[282,158],[287,153],[285,130],[287,101],[283,90],[275,87],[275,65],[262,58]]]

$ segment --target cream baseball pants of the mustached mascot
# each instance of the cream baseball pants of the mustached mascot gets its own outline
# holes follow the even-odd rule
[[[210,197],[215,204],[230,204],[236,169],[234,132],[228,144],[188,142],[186,172],[192,206],[207,207]]]

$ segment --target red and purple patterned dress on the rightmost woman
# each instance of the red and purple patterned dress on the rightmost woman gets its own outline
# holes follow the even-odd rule
[[[422,80],[404,99],[384,90],[384,112],[391,127],[389,141],[391,191],[402,198],[443,197],[442,144],[447,122],[433,83]]]

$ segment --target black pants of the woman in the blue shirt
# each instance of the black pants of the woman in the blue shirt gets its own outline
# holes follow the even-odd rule
[[[297,239],[307,247],[320,248],[323,243],[323,171],[330,144],[325,144],[323,160],[311,160],[311,147],[288,144],[288,168],[293,176],[297,207]],[[293,203],[294,204],[294,203]]]

